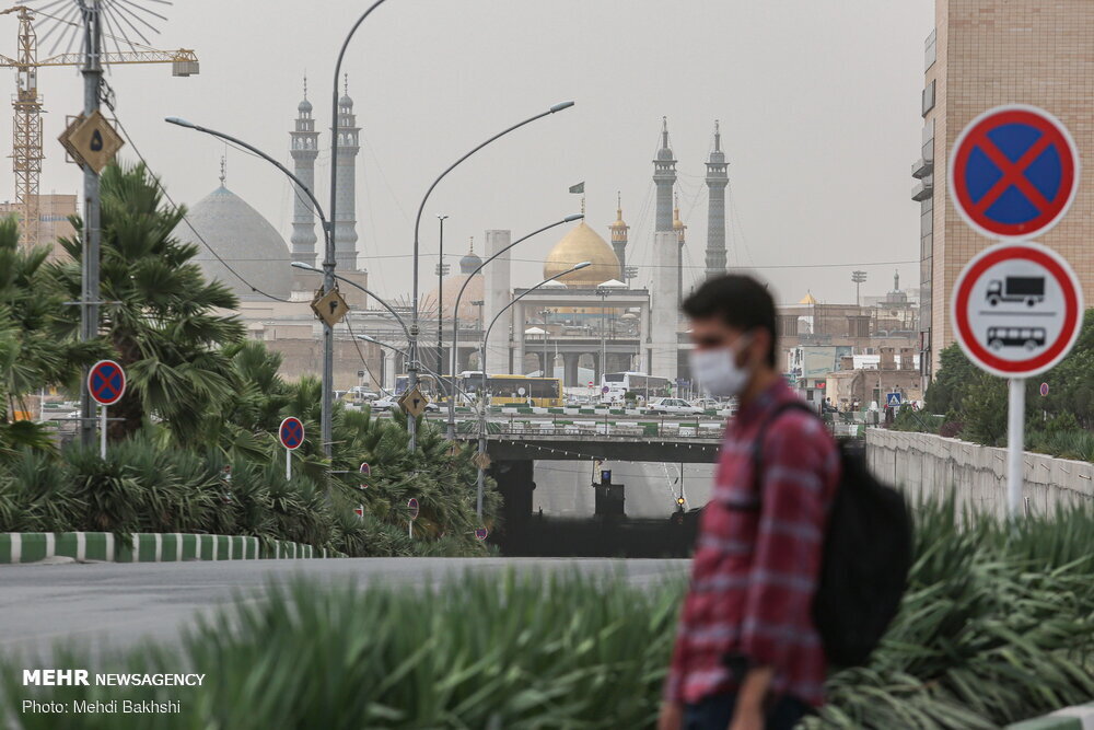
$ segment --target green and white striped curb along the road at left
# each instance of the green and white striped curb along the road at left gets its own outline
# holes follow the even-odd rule
[[[178,563],[183,560],[294,560],[342,557],[275,540],[264,546],[257,537],[243,535],[195,535],[183,533],[138,533],[129,543],[112,532],[3,532],[0,533],[0,564],[37,563],[51,557],[78,561]]]

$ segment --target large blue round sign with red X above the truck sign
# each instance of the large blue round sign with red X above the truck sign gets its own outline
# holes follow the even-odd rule
[[[1067,127],[1024,104],[988,109],[957,137],[950,195],[965,222],[990,239],[1045,233],[1079,190],[1079,151]]]

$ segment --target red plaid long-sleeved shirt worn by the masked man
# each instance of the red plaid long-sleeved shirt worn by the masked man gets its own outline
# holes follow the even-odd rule
[[[824,704],[826,663],[811,607],[839,476],[836,444],[817,418],[785,412],[764,439],[763,498],[753,462],[761,426],[796,397],[780,378],[726,428],[665,682],[671,702],[734,691],[740,677],[724,661],[740,657],[775,669],[773,695]]]

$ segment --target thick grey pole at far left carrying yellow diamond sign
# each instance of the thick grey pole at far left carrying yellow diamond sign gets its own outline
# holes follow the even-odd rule
[[[102,0],[88,0],[83,13],[83,116],[98,111],[98,90],[103,80],[102,65]],[[83,166],[83,259],[80,271],[80,340],[98,336],[98,258],[100,258],[98,173]],[[95,406],[88,390],[88,371],[80,380],[80,441],[95,445]]]

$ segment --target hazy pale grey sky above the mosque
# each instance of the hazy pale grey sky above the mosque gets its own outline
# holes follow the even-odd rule
[[[143,0],[149,2],[149,0]],[[40,3],[38,3],[40,4]],[[631,225],[629,263],[652,269],[654,150],[668,117],[688,225],[688,277],[703,268],[703,163],[721,119],[730,160],[731,265],[758,268],[781,301],[812,289],[822,301],[892,287],[894,269],[917,286],[919,207],[909,199],[921,120],[923,38],[931,0],[388,0],[347,55],[349,91],[363,127],[358,158],[362,265],[381,293],[410,287],[414,213],[429,183],[480,140],[563,100],[577,106],[487,148],[442,183],[427,207],[422,287],[437,254],[457,256],[474,235],[514,237],[579,208],[607,237],[616,190]],[[154,44],[194,48],[201,73],[166,66],[118,67],[108,81],[118,116],[172,196],[193,205],[218,185],[224,146],[162,121],[182,116],[242,137],[289,162],[289,130],[307,73],[316,127],[328,148],[331,73],[338,46],[366,2],[175,0]],[[14,55],[16,21],[0,20]],[[49,53],[48,43],[39,56]],[[14,72],[12,72],[12,77]],[[14,78],[10,79],[14,91]],[[77,193],[80,174],[56,141],[81,107],[74,69],[47,68],[44,193]],[[10,116],[0,138],[10,139]],[[131,148],[124,155],[132,158]],[[288,240],[291,189],[276,170],[228,152],[228,186]],[[317,162],[326,200],[329,151]],[[2,176],[14,195],[11,174]],[[540,280],[563,230],[514,251],[513,281]],[[519,253],[517,253],[519,252]],[[455,257],[449,259],[455,263]],[[899,265],[895,262],[901,262]],[[827,265],[814,268],[814,265]],[[831,266],[837,265],[837,266]]]

